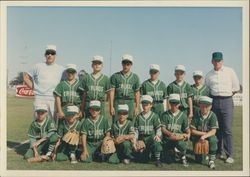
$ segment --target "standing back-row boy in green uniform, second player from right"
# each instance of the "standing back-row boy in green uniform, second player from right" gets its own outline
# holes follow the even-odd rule
[[[193,117],[193,90],[191,86],[184,80],[185,71],[186,69],[183,65],[177,65],[175,67],[176,80],[167,86],[167,95],[169,96],[172,93],[180,95],[179,109],[185,112],[188,115],[189,121],[191,121]],[[168,108],[170,109],[169,102]]]

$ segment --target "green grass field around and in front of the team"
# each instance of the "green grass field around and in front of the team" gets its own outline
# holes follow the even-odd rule
[[[190,166],[183,168],[181,164],[163,164],[162,168],[155,167],[152,163],[139,164],[107,164],[107,163],[78,163],[70,162],[43,162],[37,164],[28,164],[23,160],[23,154],[28,148],[24,143],[28,139],[27,130],[32,121],[32,103],[33,99],[17,98],[8,94],[7,98],[7,169],[8,170],[194,170],[207,171],[209,168],[205,164],[196,164],[193,155],[188,153]],[[241,171],[242,162],[242,107],[235,108],[234,115],[234,148],[235,163],[230,165],[222,160],[216,160],[216,170],[218,171]],[[236,138],[237,137],[237,138]],[[191,143],[189,144],[191,147]]]

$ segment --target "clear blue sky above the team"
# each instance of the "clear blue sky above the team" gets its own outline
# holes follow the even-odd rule
[[[8,7],[9,79],[44,61],[46,44],[55,44],[59,64],[75,63],[91,72],[91,57],[98,54],[110,75],[128,53],[141,82],[156,63],[166,84],[178,64],[186,66],[186,79],[193,83],[192,72],[206,74],[212,52],[221,51],[242,83],[241,12],[236,7]]]

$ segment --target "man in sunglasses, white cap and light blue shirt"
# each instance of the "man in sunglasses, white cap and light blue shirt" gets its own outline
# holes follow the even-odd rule
[[[49,116],[54,118],[55,98],[53,91],[62,78],[64,67],[56,64],[56,46],[47,45],[44,54],[46,61],[36,64],[24,74],[24,82],[35,94],[34,107],[46,104]]]

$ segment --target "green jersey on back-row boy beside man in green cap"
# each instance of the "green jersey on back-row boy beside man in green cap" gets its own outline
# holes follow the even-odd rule
[[[209,96],[210,92],[209,92],[209,88],[206,85],[203,85],[201,88],[197,88],[194,85],[191,86],[193,89],[193,105],[196,107],[199,107],[199,99],[200,96]]]

